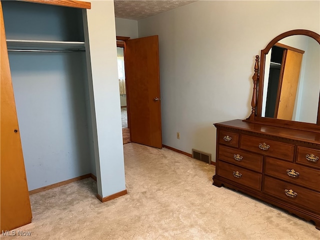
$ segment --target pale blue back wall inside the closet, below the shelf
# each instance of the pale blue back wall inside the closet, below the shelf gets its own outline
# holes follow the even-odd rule
[[[9,61],[28,189],[90,173],[83,53],[12,52]]]

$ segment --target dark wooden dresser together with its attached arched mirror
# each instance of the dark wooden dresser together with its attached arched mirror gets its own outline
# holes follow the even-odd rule
[[[310,44],[297,45],[298,39]],[[275,48],[281,48],[281,54],[273,54]],[[318,33],[295,29],[274,37],[261,50],[260,58],[255,56],[251,114],[245,120],[214,124],[216,168],[212,179],[215,186],[240,190],[312,220],[320,230],[320,75],[316,60],[320,56],[308,60],[308,53],[319,49]],[[301,63],[300,53],[308,68]],[[312,76],[305,75],[306,71]],[[292,76],[298,77],[293,80]]]

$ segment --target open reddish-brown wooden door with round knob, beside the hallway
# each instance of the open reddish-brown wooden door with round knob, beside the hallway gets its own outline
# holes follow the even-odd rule
[[[126,40],[124,57],[130,139],[162,148],[158,36]]]

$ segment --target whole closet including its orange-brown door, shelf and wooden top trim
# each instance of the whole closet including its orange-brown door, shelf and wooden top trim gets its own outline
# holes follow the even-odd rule
[[[31,221],[28,190],[95,173],[81,9],[90,3],[1,5],[0,228],[9,230]]]

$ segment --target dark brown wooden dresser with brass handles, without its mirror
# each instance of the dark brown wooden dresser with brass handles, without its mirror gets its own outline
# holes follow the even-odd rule
[[[214,125],[213,185],[282,207],[320,229],[320,133],[239,119]]]

